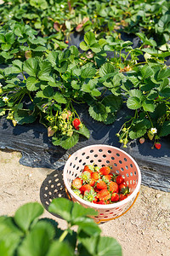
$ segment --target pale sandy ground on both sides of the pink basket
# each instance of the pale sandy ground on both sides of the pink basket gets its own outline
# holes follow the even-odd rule
[[[40,188],[51,169],[21,166],[21,154],[0,150],[0,215],[12,216],[26,202],[40,201]],[[65,221],[44,210],[65,229]],[[170,193],[141,186],[138,200],[121,218],[99,224],[103,236],[115,237],[123,256],[170,255]]]

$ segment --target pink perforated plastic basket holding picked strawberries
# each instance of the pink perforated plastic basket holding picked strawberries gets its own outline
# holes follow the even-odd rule
[[[109,205],[94,204],[77,196],[71,189],[71,182],[75,177],[80,176],[85,165],[93,164],[94,166],[112,166],[112,172],[124,177],[130,195],[123,201]],[[79,202],[83,207],[94,208],[99,212],[98,216],[93,217],[97,223],[118,218],[127,212],[139,195],[141,184],[139,166],[129,154],[120,148],[99,144],[81,148],[71,154],[71,157],[66,161],[63,178],[65,190],[72,201]]]

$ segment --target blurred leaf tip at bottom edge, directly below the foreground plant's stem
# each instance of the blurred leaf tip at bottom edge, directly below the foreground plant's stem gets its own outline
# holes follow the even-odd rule
[[[62,241],[54,241],[49,248],[47,256],[56,256],[56,252],[59,256],[74,256],[73,250],[69,245]]]

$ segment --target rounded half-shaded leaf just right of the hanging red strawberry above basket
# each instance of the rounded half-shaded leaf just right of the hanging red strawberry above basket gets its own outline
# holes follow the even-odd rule
[[[107,119],[105,105],[101,102],[96,102],[94,106],[90,106],[88,112],[94,120],[97,120],[99,122],[105,121],[105,119]]]

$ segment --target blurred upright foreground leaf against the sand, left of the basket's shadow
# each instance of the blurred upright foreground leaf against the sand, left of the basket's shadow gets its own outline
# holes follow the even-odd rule
[[[33,220],[38,218],[43,213],[43,207],[37,203],[27,203],[20,207],[14,214],[14,222],[21,230],[27,231]]]

